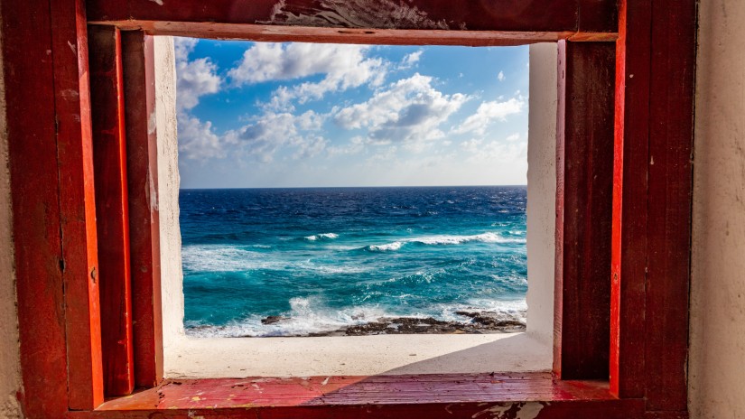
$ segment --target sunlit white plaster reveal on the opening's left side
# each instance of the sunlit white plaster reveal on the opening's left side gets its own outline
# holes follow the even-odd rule
[[[176,138],[176,65],[173,38],[156,36],[155,112],[158,130],[158,208],[161,221],[164,362],[168,348],[183,339],[182,237],[179,227],[179,151]]]

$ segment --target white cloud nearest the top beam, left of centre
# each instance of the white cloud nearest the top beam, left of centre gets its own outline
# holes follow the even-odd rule
[[[237,86],[269,80],[303,79],[324,75],[318,82],[306,81],[275,92],[272,105],[286,108],[292,99],[304,103],[320,99],[327,92],[356,88],[363,84],[379,86],[386,63],[366,57],[364,45],[319,43],[256,43],[243,54],[238,66],[228,71]]]

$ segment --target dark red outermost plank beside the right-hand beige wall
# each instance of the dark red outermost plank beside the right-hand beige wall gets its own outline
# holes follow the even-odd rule
[[[646,398],[647,410],[684,411],[696,2],[655,0],[652,19]]]

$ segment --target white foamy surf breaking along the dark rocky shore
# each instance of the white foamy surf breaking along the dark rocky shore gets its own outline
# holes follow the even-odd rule
[[[381,317],[433,317],[441,321],[470,322],[470,318],[457,312],[494,312],[498,320],[526,321],[525,300],[514,301],[470,301],[459,304],[433,304],[421,312],[396,312],[380,306],[355,306],[337,310],[326,306],[321,299],[296,297],[289,300],[290,311],[281,313],[283,320],[271,324],[261,322],[265,317],[251,315],[242,320],[231,321],[225,325],[212,325],[198,321],[187,321],[186,333],[189,336],[207,338],[237,337],[281,337],[308,336],[314,333],[338,331],[342,328],[377,321]]]

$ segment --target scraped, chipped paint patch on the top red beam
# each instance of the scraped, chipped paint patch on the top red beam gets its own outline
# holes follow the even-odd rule
[[[374,29],[451,29],[445,20],[433,21],[416,6],[392,0],[321,0],[311,7],[277,2],[268,21],[256,23],[310,27],[374,28]],[[457,23],[466,29],[465,23]]]

